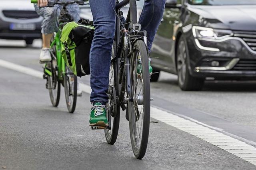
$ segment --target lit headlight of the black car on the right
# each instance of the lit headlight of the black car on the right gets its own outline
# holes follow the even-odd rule
[[[193,26],[192,32],[195,38],[207,39],[223,39],[233,35],[231,30],[212,29],[199,26]]]

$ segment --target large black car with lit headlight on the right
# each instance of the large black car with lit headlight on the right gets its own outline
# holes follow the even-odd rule
[[[200,90],[205,79],[255,80],[256,0],[167,0],[151,58],[182,90]]]

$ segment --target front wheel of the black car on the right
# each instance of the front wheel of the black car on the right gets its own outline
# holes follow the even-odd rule
[[[182,35],[178,41],[177,49],[177,73],[178,84],[182,90],[202,90],[204,79],[192,77],[188,70],[188,47],[186,39]]]

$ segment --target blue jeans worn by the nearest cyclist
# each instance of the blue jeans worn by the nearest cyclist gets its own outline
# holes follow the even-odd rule
[[[113,38],[115,34],[115,0],[90,0],[94,20],[94,39],[90,51],[91,88],[90,102],[106,104],[108,79]],[[145,0],[140,16],[142,30],[148,32],[148,49],[152,47],[154,36],[164,13],[165,0]]]

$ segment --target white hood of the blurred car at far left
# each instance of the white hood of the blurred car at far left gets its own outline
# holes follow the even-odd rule
[[[30,0],[0,0],[0,10],[34,10]]]

